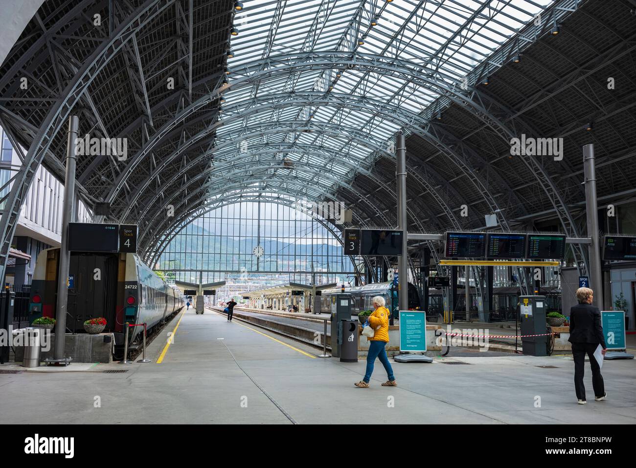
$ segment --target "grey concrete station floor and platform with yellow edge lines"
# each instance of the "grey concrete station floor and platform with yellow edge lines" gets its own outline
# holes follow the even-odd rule
[[[0,372],[0,423],[368,423],[369,411],[377,423],[636,423],[636,360],[605,361],[603,402],[593,401],[586,365],[588,404],[579,406],[565,356],[451,350],[432,364],[392,362],[397,387],[380,386],[377,362],[371,388],[356,388],[364,360],[317,358],[313,348],[209,311],[179,314],[163,336],[177,323],[174,343],[163,353],[166,341],[155,339],[147,364]]]

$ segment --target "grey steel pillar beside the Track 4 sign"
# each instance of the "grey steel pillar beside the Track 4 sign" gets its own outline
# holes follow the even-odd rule
[[[60,269],[57,273],[57,311],[55,312],[55,350],[53,359],[62,360],[64,356],[64,342],[66,341],[66,306],[69,297],[69,287],[66,285],[69,277],[69,262],[71,253],[68,249],[69,223],[74,221],[75,195],[75,139],[78,136],[79,119],[76,115],[69,117],[68,139],[66,142],[66,178],[64,180],[64,210],[62,211],[62,245],[60,246]]]

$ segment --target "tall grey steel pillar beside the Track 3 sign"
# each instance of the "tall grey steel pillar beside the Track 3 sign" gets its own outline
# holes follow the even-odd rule
[[[406,248],[406,142],[404,134],[397,132],[397,224],[403,234],[402,255],[397,257],[399,273],[398,308],[408,310],[408,249]]]

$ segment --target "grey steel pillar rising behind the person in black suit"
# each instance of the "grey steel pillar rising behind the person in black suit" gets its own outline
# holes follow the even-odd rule
[[[583,171],[585,176],[585,208],[588,218],[590,245],[590,285],[598,308],[603,308],[603,278],[600,269],[600,239],[598,236],[598,206],[596,194],[596,169],[594,167],[594,145],[583,146]]]

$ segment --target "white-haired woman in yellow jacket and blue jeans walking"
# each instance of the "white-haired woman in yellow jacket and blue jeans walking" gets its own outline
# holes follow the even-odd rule
[[[389,358],[387,358],[387,352],[384,350],[384,347],[389,343],[389,315],[391,314],[389,309],[384,307],[384,304],[384,297],[378,295],[373,298],[375,311],[369,316],[369,325],[375,330],[375,334],[369,339],[370,346],[366,355],[366,374],[364,374],[364,379],[354,384],[361,388],[369,386],[375,358],[380,358],[380,362],[384,365],[384,370],[387,371],[387,376],[389,376],[389,380],[385,381],[382,386],[397,385],[391,363]]]

